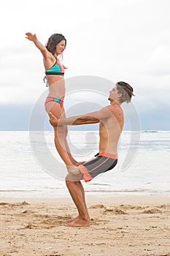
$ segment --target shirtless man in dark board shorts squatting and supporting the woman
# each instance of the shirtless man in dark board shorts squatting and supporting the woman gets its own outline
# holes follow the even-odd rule
[[[134,96],[133,91],[128,83],[118,82],[109,91],[110,105],[101,110],[62,119],[57,119],[52,113],[49,113],[50,124],[53,127],[99,123],[99,153],[96,154],[95,159],[84,162],[78,167],[67,166],[69,174],[66,176],[66,186],[79,213],[77,218],[69,222],[67,225],[69,227],[90,225],[85,192],[80,180],[84,179],[85,182],[88,182],[98,174],[111,170],[117,164],[117,143],[124,124],[123,110],[120,105],[123,102],[131,102],[131,97]]]

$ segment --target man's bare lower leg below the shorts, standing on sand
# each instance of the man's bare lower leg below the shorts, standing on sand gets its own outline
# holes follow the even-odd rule
[[[90,217],[88,214],[88,208],[85,203],[85,192],[80,181],[69,181],[69,175],[66,177],[66,186],[69,189],[69,193],[72,196],[72,200],[77,207],[79,216],[72,220],[68,227],[82,227],[90,225]]]

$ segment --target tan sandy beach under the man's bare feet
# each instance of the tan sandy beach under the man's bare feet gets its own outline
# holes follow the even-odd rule
[[[1,256],[170,255],[170,197],[87,197],[90,227],[71,198],[0,198]]]

